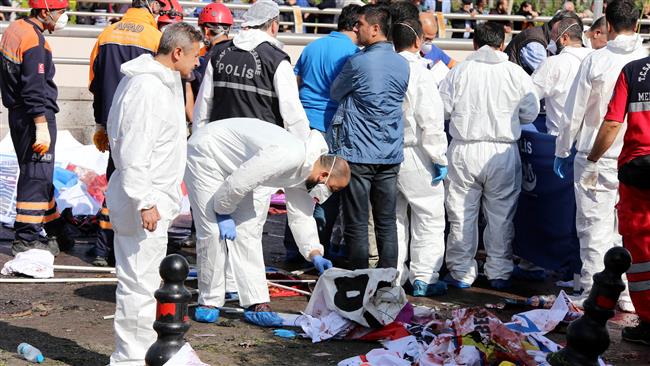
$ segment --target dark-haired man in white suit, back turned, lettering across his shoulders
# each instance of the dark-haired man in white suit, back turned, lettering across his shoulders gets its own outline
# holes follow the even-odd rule
[[[447,151],[448,284],[468,288],[478,276],[478,215],[483,207],[485,274],[493,288],[510,286],[513,217],[521,191],[517,140],[535,120],[539,97],[532,79],[508,61],[503,25],[477,27],[472,53],[440,85],[452,141]]]

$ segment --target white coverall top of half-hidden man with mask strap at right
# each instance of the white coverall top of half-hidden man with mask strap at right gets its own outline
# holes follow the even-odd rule
[[[564,105],[580,63],[593,52],[591,48],[565,47],[559,55],[542,61],[531,77],[537,95],[546,102],[546,128],[549,135],[557,136]]]

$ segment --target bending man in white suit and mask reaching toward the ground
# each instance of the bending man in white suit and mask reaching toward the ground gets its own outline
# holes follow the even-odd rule
[[[197,240],[210,251],[199,280],[216,286],[199,294],[199,303],[224,304],[226,252],[235,273],[239,303],[247,320],[272,325],[262,253],[262,228],[267,212],[255,207],[260,186],[281,187],[287,200],[289,227],[301,254],[323,272],[332,263],[323,258],[313,218],[314,203],[348,185],[345,160],[328,151],[321,133],[306,141],[258,119],[230,118],[208,123],[188,141],[185,184],[196,224]],[[258,217],[263,215],[262,218]],[[216,309],[215,309],[216,310]],[[269,323],[269,321],[271,321]],[[277,325],[277,324],[276,324]]]

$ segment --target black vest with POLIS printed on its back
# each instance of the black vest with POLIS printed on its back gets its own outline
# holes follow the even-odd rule
[[[214,48],[210,50],[214,88],[210,120],[246,117],[284,126],[273,77],[289,56],[268,42],[252,51],[239,49],[232,41]]]

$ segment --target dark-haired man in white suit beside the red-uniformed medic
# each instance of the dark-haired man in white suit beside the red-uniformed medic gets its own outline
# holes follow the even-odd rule
[[[607,46],[589,54],[578,70],[566,100],[560,134],[555,143],[553,170],[560,178],[569,169],[571,148],[578,151],[573,163],[576,195],[576,230],[580,240],[580,288],[576,304],[588,297],[593,275],[605,268],[603,258],[608,249],[622,245],[617,229],[618,201],[617,158],[623,147],[625,125],[612,147],[598,162],[587,160],[598,129],[607,112],[616,79],[630,61],[648,55],[643,38],[635,33],[639,10],[632,0],[615,0],[607,5]],[[626,289],[619,297],[622,310],[634,311]]]

